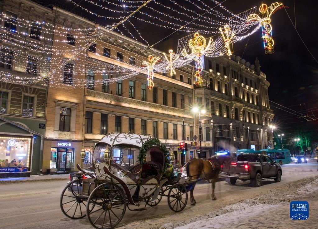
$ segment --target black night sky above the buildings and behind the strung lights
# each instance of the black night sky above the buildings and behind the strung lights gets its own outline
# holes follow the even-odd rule
[[[100,15],[118,16],[117,13],[110,13],[107,10],[99,10],[98,7],[92,7],[89,3],[87,3],[86,0],[73,1]],[[157,1],[162,2],[162,0]],[[199,0],[191,1],[201,4],[199,3]],[[215,4],[211,0],[202,1],[211,7],[215,6]],[[220,3],[222,3],[223,1],[219,0]],[[103,3],[102,1],[96,2],[101,4]],[[112,0],[111,2],[126,4],[122,3],[121,1],[115,0]],[[196,7],[185,0],[164,0],[163,2],[165,3],[165,5],[179,10],[180,8],[176,7],[173,2],[182,4],[188,9],[196,10],[196,12],[198,12],[199,14],[204,12],[198,10]],[[258,8],[261,3],[266,3],[269,6],[273,2],[276,1],[225,0],[222,5],[235,14],[256,6],[258,13]],[[42,3],[44,5],[51,4],[50,1],[46,0],[42,1]],[[284,0],[282,1],[282,3],[284,3],[284,6],[286,7],[277,10],[271,17],[273,27],[272,32],[275,42],[275,52],[270,55],[265,54],[263,40],[261,38],[261,31],[259,30],[251,35],[249,38],[235,43],[233,54],[243,57],[251,64],[253,64],[255,58],[258,57],[261,65],[261,71],[266,74],[266,79],[270,82],[269,99],[277,103],[270,103],[271,108],[274,110],[275,114],[274,122],[278,127],[277,132],[285,132],[287,134],[290,134],[290,138],[294,138],[294,136],[297,134],[293,133],[294,131],[297,131],[298,129],[306,129],[306,131],[310,131],[312,133],[312,141],[318,142],[318,125],[316,124],[317,122],[307,121],[310,119],[316,119],[315,117],[317,117],[318,120],[318,63],[311,56],[311,54],[308,52],[305,45],[301,41],[302,38],[312,55],[318,60],[318,45],[315,41],[315,34],[318,29],[316,19],[318,1]],[[79,7],[74,8],[74,5],[69,3],[68,1],[59,0],[55,1],[55,4],[66,7],[68,10],[73,10],[73,12],[81,14],[84,17],[92,18],[91,14],[87,14],[87,12],[83,11]],[[158,11],[171,13],[171,11],[165,10],[164,8],[160,7],[160,5],[155,4],[154,2],[149,3],[149,6],[155,8]],[[125,10],[122,7],[114,7],[113,9]],[[222,9],[218,7],[215,9],[224,13],[224,11],[222,11]],[[292,22],[289,19],[285,9]],[[145,9],[144,12],[146,12]],[[152,15],[155,15],[153,11],[149,12],[152,12]],[[226,14],[224,13],[224,15]],[[139,16],[147,18],[146,16],[142,16],[141,14]],[[189,20],[189,18],[182,18],[182,16],[177,14],[173,14],[173,16]],[[226,16],[229,15],[227,14]],[[93,17],[93,19],[95,19],[102,25],[118,22],[118,20],[112,21],[109,19],[101,19],[98,17]],[[165,19],[169,20],[169,18]],[[149,42],[150,45],[160,41],[162,38],[168,36],[174,31],[151,26],[147,23],[142,23],[133,18],[131,18],[130,20],[135,25],[136,29],[142,34],[145,40]],[[297,34],[292,23],[295,23],[296,29],[301,38]],[[132,28],[130,28],[130,30],[133,31]],[[125,30],[123,28],[121,28],[121,31],[125,33]],[[137,37],[137,34],[134,35]],[[185,33],[185,35],[187,35],[187,33]],[[247,44],[246,48],[245,44]],[[278,104],[288,107],[292,110],[283,108]],[[296,113],[295,115],[288,113],[287,111],[282,111],[279,108],[287,110],[291,113],[295,113],[294,111],[298,111],[300,113]]]

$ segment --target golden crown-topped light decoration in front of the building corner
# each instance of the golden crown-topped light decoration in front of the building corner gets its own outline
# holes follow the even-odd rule
[[[190,39],[188,43],[189,43],[189,47],[191,49],[192,55],[188,54],[186,49],[183,49],[181,54],[187,58],[192,58],[192,56],[195,56],[194,60],[196,61],[196,65],[195,65],[196,73],[194,74],[194,76],[197,79],[197,82],[195,84],[200,87],[202,86],[202,83],[203,83],[203,79],[202,79],[203,66],[202,66],[201,56],[204,55],[204,52],[207,49],[209,49],[211,45],[212,46],[214,45],[214,41],[210,37],[209,43],[206,44],[206,39],[203,36],[199,35],[198,32],[196,32],[194,34],[194,39]]]

